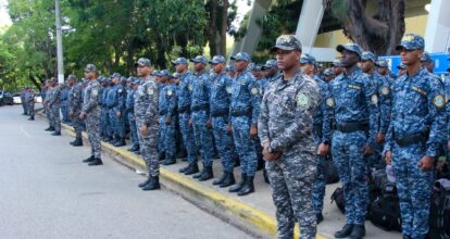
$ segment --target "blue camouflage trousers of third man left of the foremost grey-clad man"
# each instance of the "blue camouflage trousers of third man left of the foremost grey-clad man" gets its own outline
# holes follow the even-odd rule
[[[196,144],[200,148],[201,159],[204,166],[211,166],[214,158],[213,134],[207,127],[209,116],[205,111],[192,112],[193,137]]]

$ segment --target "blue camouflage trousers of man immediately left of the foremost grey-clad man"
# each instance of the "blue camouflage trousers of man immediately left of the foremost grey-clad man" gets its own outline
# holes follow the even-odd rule
[[[258,166],[258,155],[254,140],[250,139],[250,117],[232,117],[233,138],[236,151],[240,159],[240,168],[243,174],[254,176]]]

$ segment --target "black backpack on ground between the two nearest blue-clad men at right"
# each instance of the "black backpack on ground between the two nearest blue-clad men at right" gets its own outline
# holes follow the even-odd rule
[[[397,187],[392,183],[383,186],[383,193],[371,205],[371,222],[384,230],[401,231],[400,202]]]

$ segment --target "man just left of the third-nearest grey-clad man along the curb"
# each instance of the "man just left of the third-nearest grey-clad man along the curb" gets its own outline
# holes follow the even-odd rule
[[[72,125],[75,129],[75,140],[70,142],[74,147],[83,146],[83,121],[79,118],[83,108],[83,83],[78,83],[78,78],[75,75],[67,76],[67,84],[71,88],[68,92],[68,116],[72,118]]]

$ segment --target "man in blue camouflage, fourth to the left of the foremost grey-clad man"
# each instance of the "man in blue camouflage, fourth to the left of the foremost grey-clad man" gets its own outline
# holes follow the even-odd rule
[[[179,129],[182,131],[183,142],[186,147],[188,165],[182,167],[179,173],[186,175],[192,175],[199,173],[197,165],[197,146],[192,140],[193,128],[189,125],[190,121],[190,103],[191,103],[191,81],[193,80],[192,74],[188,71],[188,62],[185,58],[178,58],[172,62],[175,66],[176,73],[179,74],[179,84],[176,89],[177,97],[177,111],[179,117]]]

